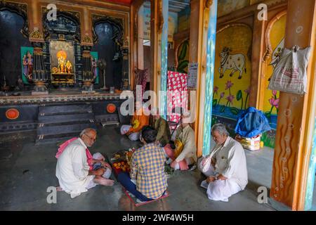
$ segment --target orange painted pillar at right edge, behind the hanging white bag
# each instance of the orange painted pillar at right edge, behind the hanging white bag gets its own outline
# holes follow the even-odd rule
[[[275,137],[275,156],[272,169],[270,197],[291,207],[305,209],[305,194],[308,181],[308,166],[312,152],[316,92],[315,79],[315,0],[289,0],[284,46],[294,45],[304,49],[312,46],[308,63],[308,93],[305,95],[281,92],[279,115]]]

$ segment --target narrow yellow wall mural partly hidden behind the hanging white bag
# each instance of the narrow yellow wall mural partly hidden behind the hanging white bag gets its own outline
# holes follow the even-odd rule
[[[270,131],[263,134],[261,141],[265,146],[275,147],[275,134],[277,129],[277,113],[279,110],[279,91],[269,90],[268,84],[272,76],[275,65],[279,60],[280,53],[284,48],[285,22],[287,15],[282,15],[271,27],[269,38],[272,49],[271,57],[267,61],[267,72],[265,75],[265,95],[263,98],[263,112],[265,113],[270,127]]]

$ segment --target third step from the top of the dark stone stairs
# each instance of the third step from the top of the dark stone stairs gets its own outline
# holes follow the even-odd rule
[[[85,122],[79,124],[63,124],[63,125],[53,125],[47,127],[38,127],[37,135],[55,135],[55,134],[68,134],[80,132],[83,129],[88,127],[96,128],[96,124],[94,122]]]

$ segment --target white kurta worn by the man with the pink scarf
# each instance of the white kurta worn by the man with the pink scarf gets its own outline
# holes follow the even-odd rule
[[[93,175],[88,175],[90,167],[86,158],[86,145],[81,139],[70,143],[57,160],[56,176],[60,188],[71,198],[96,186]]]

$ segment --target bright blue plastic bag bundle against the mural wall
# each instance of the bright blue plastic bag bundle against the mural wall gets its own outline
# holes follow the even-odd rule
[[[235,133],[245,138],[252,138],[265,131],[270,131],[267,117],[254,107],[249,107],[238,119]]]

